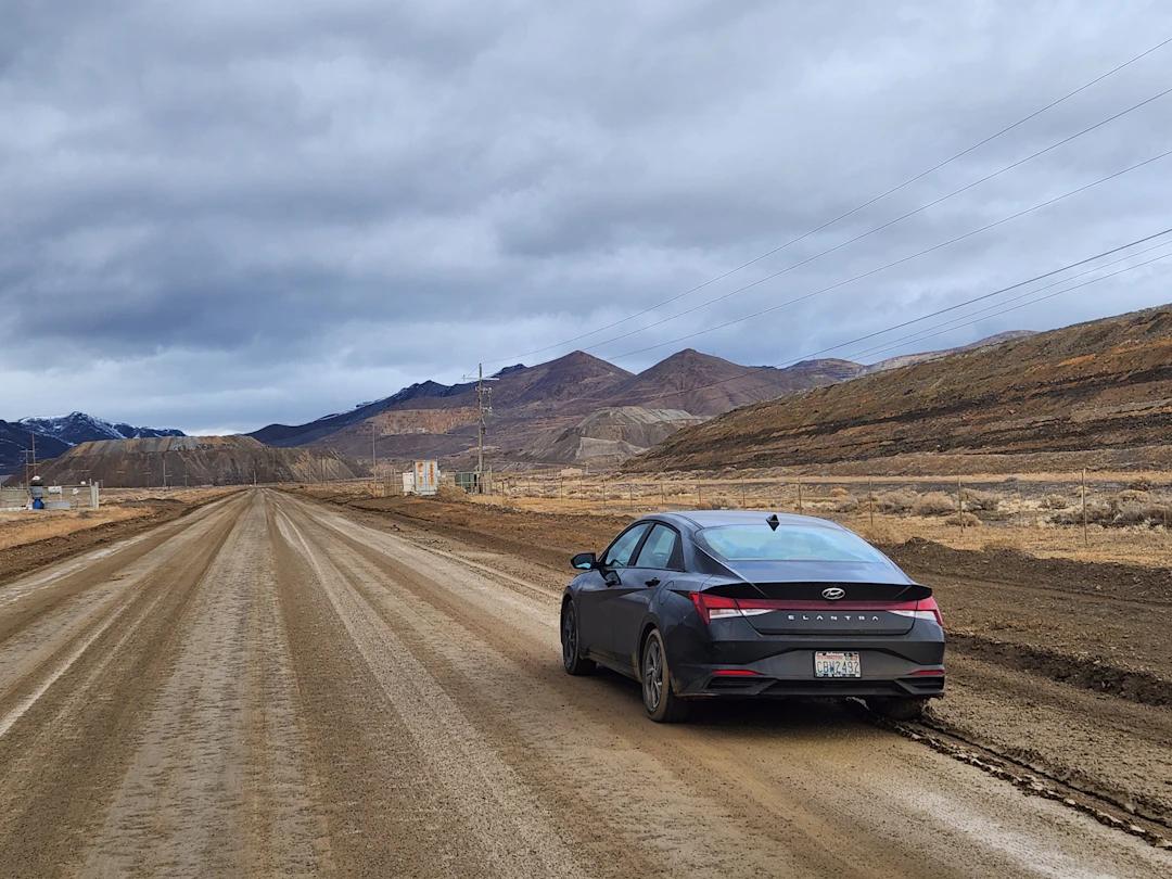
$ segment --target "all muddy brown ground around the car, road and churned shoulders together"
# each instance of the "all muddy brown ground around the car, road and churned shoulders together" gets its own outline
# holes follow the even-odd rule
[[[954,639],[926,723],[659,727],[628,681],[560,669],[566,550],[624,520],[261,488],[5,565],[4,871],[1172,870],[1166,571],[913,541]]]

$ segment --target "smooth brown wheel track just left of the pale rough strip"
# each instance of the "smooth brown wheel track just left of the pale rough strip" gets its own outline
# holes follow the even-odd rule
[[[0,738],[0,864],[11,874],[76,871],[132,756],[151,684],[175,656],[196,586],[239,507],[237,502],[211,511],[203,540],[172,534],[170,556],[115,609],[117,625],[89,643]]]

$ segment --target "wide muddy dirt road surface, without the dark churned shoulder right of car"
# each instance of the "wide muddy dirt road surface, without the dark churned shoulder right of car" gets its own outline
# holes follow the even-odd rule
[[[483,547],[243,492],[0,586],[4,875],[1045,875],[1172,854],[846,707],[684,727]]]

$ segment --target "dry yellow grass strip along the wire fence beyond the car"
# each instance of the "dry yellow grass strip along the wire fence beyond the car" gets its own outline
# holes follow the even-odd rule
[[[928,478],[822,479],[802,481],[802,512],[840,522],[867,539],[883,544],[899,544],[913,538],[934,540],[946,546],[968,550],[1014,548],[1043,558],[1071,558],[1086,561],[1116,561],[1145,567],[1172,566],[1172,529],[1163,522],[1156,526],[1103,526],[1091,522],[1083,544],[1082,520],[1061,525],[1052,522],[1056,513],[1081,510],[1081,477],[1070,473],[1031,473],[1014,477],[994,477],[980,488],[966,477],[965,531],[956,518],[956,498],[949,491],[932,491],[943,482]],[[1098,477],[1098,478],[1096,478]],[[1151,492],[1129,489],[1143,479]],[[573,513],[588,516],[641,515],[656,510],[695,509],[763,509],[797,512],[796,483],[777,479],[701,481],[662,478],[626,483],[599,477],[566,478],[534,475],[513,476],[507,493],[502,495],[498,479],[496,493],[463,495],[463,500],[489,506],[536,513]],[[604,485],[606,499],[604,500]],[[1111,499],[1122,496],[1116,509],[1138,503],[1146,497],[1152,503],[1172,502],[1168,473],[1110,473],[1088,475],[1089,507],[1095,503],[1111,506]],[[853,488],[853,493],[851,489]],[[838,490],[836,490],[838,489]],[[302,491],[318,497],[369,497],[369,482],[333,483],[302,486]],[[955,491],[955,489],[952,489]],[[444,492],[450,499],[451,492]],[[934,516],[912,515],[917,502],[927,495],[948,499],[948,509]],[[1158,499],[1158,500],[1157,500]],[[935,498],[935,506],[943,502]],[[921,504],[921,509],[922,509]],[[1163,507],[1161,507],[1163,509]],[[1090,517],[1089,517],[1090,518]]]

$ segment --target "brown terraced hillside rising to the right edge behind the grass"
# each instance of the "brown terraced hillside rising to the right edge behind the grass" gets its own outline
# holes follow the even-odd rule
[[[1166,461],[1172,306],[745,407],[681,430],[636,470],[830,465],[969,456],[1008,469],[1056,452]],[[992,457],[990,457],[992,456]],[[1031,457],[1033,456],[1033,457]]]

